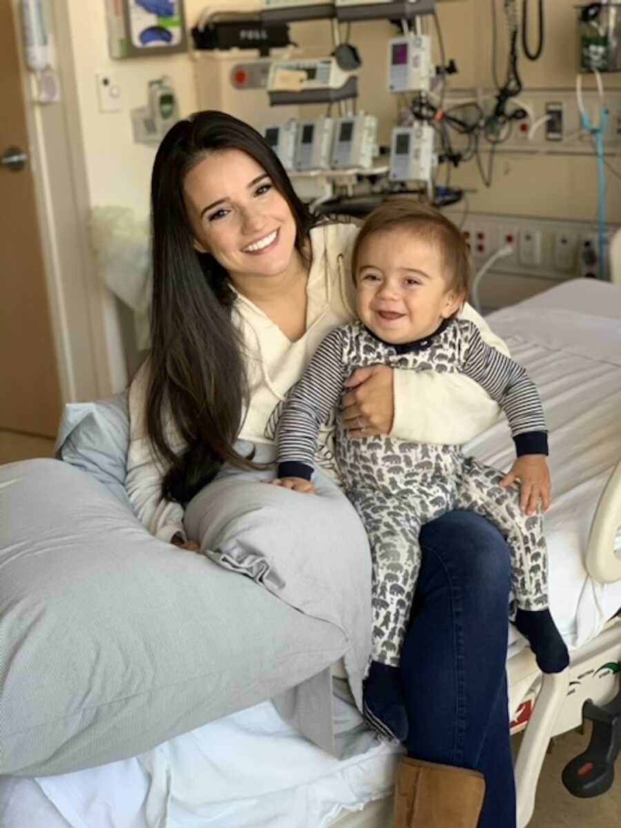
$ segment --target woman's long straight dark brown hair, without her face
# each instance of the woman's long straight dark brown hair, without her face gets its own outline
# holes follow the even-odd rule
[[[148,360],[147,434],[168,469],[166,498],[187,503],[224,461],[256,468],[233,448],[248,405],[241,339],[231,320],[229,273],[209,253],[198,253],[185,211],[185,176],[209,152],[236,149],[253,157],[272,179],[296,222],[296,248],[315,219],[262,136],[226,113],[190,115],[166,134],[151,183],[153,298]],[[174,426],[185,443],[173,445]],[[177,446],[178,449],[178,446]]]

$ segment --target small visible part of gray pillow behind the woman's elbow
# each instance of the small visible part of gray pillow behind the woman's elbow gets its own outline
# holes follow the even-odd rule
[[[128,444],[127,391],[107,400],[65,406],[56,437],[56,457],[93,474],[127,506]]]

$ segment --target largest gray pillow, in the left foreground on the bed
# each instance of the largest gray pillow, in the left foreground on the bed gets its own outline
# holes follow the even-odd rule
[[[2,466],[0,492],[1,774],[137,755],[312,676],[325,687],[351,648],[338,623],[156,540],[72,465]],[[332,554],[345,543],[336,537]]]

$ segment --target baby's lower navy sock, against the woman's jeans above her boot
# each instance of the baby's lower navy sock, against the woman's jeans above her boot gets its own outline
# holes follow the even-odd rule
[[[407,711],[398,667],[371,662],[363,685],[364,715],[373,729],[388,739],[405,742]]]

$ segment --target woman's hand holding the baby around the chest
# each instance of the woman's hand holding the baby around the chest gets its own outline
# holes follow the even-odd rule
[[[343,425],[350,437],[388,434],[395,412],[392,368],[371,365],[357,368],[345,383],[351,388],[343,397]]]

